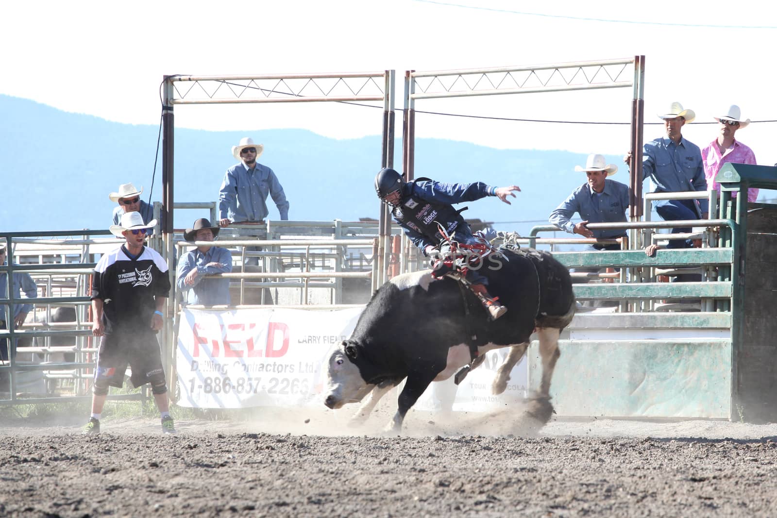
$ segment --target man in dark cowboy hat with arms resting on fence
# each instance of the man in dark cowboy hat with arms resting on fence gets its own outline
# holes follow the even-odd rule
[[[183,232],[187,242],[212,242],[218,236],[218,227],[200,217],[194,221],[192,228]],[[228,305],[229,280],[209,278],[212,273],[228,273],[232,271],[232,254],[220,246],[198,245],[181,256],[176,271],[176,285],[183,294],[184,304],[203,304],[215,306]]]

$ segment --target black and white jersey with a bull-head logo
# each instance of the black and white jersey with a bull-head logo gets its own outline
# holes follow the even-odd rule
[[[148,328],[156,310],[154,297],[167,297],[169,292],[165,259],[148,246],[136,259],[124,245],[105,254],[92,277],[92,299],[103,301],[106,332],[133,325]]]

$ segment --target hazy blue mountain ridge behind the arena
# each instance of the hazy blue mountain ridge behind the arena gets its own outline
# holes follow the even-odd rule
[[[152,201],[160,200],[161,151],[154,172],[158,134],[159,127],[151,124],[111,122],[0,95],[0,176],[7,189],[6,203],[0,206],[3,229],[107,228],[115,206],[108,193],[120,183],[144,186],[144,200],[149,194]],[[176,128],[174,200],[218,200],[225,170],[235,164],[232,145],[246,136],[264,144],[259,162],[274,169],[284,186],[291,219],[378,217],[373,179],[381,166],[379,135],[333,139],[303,129]],[[401,139],[395,141],[395,164],[402,162],[401,144]],[[416,176],[521,186],[510,206],[490,199],[469,204],[466,217],[497,222],[498,230],[525,234],[534,224],[547,221],[550,211],[585,182],[583,174],[573,172],[575,165],[585,162],[579,153],[494,149],[434,138],[419,138],[415,144]],[[608,157],[609,162],[615,159]],[[628,176],[622,180],[628,182]],[[268,202],[270,219],[277,219],[277,208]],[[207,211],[176,210],[175,226],[185,227],[197,217],[207,217]],[[514,221],[538,223],[508,223]]]

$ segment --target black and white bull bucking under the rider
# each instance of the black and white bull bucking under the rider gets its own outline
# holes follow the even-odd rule
[[[545,424],[552,413],[549,390],[559,357],[559,333],[570,324],[576,308],[570,273],[549,252],[502,254],[491,256],[481,269],[490,279],[490,293],[508,308],[493,322],[470,290],[453,279],[434,280],[430,270],[385,283],[364,308],[350,339],[327,356],[326,406],[341,408],[371,393],[354,418],[364,419],[382,395],[406,378],[397,412],[387,426],[398,432],[429,384],[468,365],[474,350],[483,359],[491,349],[511,347],[493,381],[493,393],[501,394],[536,330],[542,380],[534,399],[538,410],[531,413]]]

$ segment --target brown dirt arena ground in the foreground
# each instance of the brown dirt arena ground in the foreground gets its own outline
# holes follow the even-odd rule
[[[339,412],[345,412],[341,410]],[[777,425],[411,412],[0,423],[0,516],[775,516]],[[375,417],[375,416],[374,416]],[[510,424],[512,423],[512,424]]]

